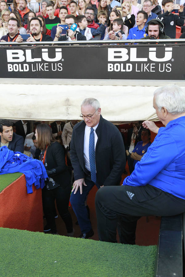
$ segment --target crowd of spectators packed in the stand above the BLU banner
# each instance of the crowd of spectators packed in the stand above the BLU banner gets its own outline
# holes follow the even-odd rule
[[[185,38],[182,0],[0,1],[0,41]]]

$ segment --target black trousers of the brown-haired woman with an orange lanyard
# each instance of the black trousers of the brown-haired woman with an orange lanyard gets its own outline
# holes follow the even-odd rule
[[[51,228],[52,233],[56,233],[55,225],[55,199],[56,206],[61,218],[64,220],[68,233],[73,231],[72,217],[68,211],[69,198],[71,194],[71,184],[65,188],[56,187],[53,190],[42,189],[43,210],[47,224]]]

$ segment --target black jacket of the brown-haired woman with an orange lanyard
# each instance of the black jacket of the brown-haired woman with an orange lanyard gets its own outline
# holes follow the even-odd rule
[[[64,149],[57,141],[51,143],[46,152],[46,169],[56,169],[56,175],[51,176],[61,187],[70,185],[70,174],[65,164]]]

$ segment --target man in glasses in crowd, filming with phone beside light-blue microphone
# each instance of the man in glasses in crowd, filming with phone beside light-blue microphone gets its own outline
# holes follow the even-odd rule
[[[56,34],[54,41],[76,41],[76,40],[86,40],[86,37],[78,31],[71,30],[71,26],[76,23],[76,17],[74,15],[68,14],[65,17],[65,24],[68,25],[68,30],[66,35],[60,37],[60,33],[63,28],[58,24],[56,28]]]

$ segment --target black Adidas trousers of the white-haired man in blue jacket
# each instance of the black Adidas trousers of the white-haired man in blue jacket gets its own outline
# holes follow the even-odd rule
[[[102,187],[95,199],[99,240],[135,244],[137,220],[141,216],[172,216],[185,211],[185,200],[150,185]]]

